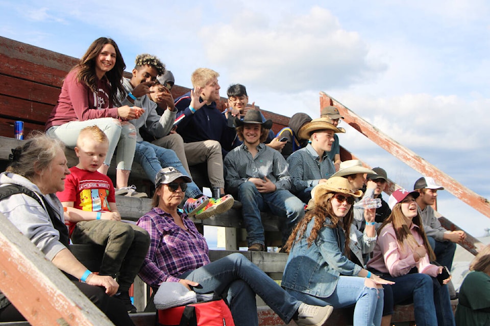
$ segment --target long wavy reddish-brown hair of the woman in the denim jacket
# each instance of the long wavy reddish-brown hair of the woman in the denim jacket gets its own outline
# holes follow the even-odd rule
[[[308,226],[308,223],[315,218],[313,228],[311,229],[311,232],[309,236],[306,238],[306,241],[308,243],[308,247],[311,246],[311,244],[316,240],[318,237],[318,233],[320,230],[324,227],[329,227],[329,228],[336,228],[337,225],[344,230],[346,242],[345,242],[345,247],[341,251],[344,252],[344,254],[350,259],[350,250],[349,250],[349,232],[353,220],[353,205],[349,208],[349,211],[347,214],[344,216],[344,218],[339,218],[333,213],[333,208],[332,208],[332,198],[336,193],[328,193],[325,196],[322,197],[322,200],[320,203],[315,203],[315,207],[308,211],[303,218],[303,220],[298,223],[298,225],[295,227],[295,229],[292,231],[291,235],[287,239],[287,242],[284,246],[284,249],[286,252],[289,252],[291,250],[293,244],[296,242],[300,241],[300,239],[304,236],[306,232],[306,228]],[[330,223],[327,224],[327,219],[330,220]]]

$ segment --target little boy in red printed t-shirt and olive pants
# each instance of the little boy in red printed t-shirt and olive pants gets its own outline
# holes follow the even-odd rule
[[[125,304],[128,312],[135,313],[129,288],[146,257],[150,236],[136,225],[121,222],[112,181],[97,172],[108,146],[107,136],[99,127],[83,128],[75,147],[79,163],[70,168],[65,189],[57,196],[66,207],[71,241],[105,247],[99,275],[117,277],[119,292],[114,297]]]

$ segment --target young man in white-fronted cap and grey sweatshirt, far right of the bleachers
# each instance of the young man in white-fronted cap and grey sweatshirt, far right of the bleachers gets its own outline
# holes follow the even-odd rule
[[[421,177],[415,181],[413,190],[420,194],[416,198],[416,202],[419,205],[419,212],[430,247],[432,247],[436,256],[436,262],[447,266],[451,270],[454,252],[456,251],[455,243],[464,240],[466,234],[462,230],[446,230],[435,217],[435,212],[431,205],[435,203],[437,191],[444,190],[444,187],[436,184],[433,178]]]

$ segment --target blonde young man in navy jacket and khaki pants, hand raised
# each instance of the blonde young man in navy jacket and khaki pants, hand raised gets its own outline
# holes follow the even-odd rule
[[[236,137],[233,116],[226,118],[216,108],[220,99],[218,77],[214,70],[196,69],[191,76],[193,89],[175,100],[175,125],[186,143],[186,151],[200,151],[192,157],[186,155],[187,162],[190,166],[207,162],[214,198],[224,195],[223,155],[232,149]]]

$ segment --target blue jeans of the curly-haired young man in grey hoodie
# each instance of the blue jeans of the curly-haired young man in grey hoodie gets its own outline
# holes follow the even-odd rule
[[[179,158],[175,152],[168,148],[163,148],[149,142],[136,143],[136,150],[134,152],[134,160],[138,162],[143,168],[146,176],[153,182],[155,177],[162,168],[174,167],[182,174],[188,175],[187,171],[182,166]],[[199,189],[198,185],[193,181],[187,183],[187,189],[185,195],[189,198],[194,198],[202,195],[203,193]]]

